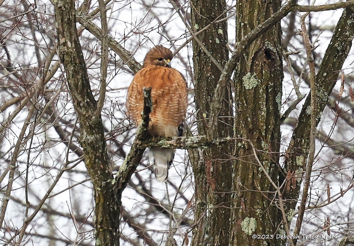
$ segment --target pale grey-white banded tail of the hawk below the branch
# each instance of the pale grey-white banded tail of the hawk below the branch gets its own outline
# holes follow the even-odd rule
[[[153,147],[150,148],[150,151],[150,162],[154,162],[156,180],[164,182],[169,175],[169,168],[171,167],[173,157],[175,157],[176,150]]]

